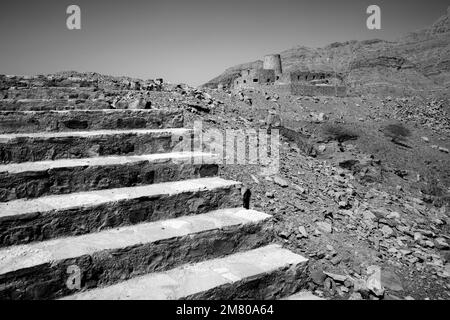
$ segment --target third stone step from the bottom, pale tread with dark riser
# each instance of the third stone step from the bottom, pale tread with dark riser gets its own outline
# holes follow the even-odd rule
[[[242,205],[241,184],[218,177],[13,200],[0,203],[0,246]]]

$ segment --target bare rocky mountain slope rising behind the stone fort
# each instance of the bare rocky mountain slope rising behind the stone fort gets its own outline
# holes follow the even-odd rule
[[[357,94],[446,93],[450,84],[449,14],[429,28],[398,41],[379,39],[332,43],[323,48],[297,46],[281,52],[284,70],[332,70],[345,75]],[[227,69],[204,86],[230,84],[240,70],[261,61]]]

